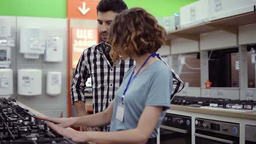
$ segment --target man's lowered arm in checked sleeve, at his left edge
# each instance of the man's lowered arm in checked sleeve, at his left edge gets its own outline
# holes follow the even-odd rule
[[[77,111],[77,116],[86,115],[84,89],[88,77],[88,68],[86,68],[85,58],[84,55],[82,55],[74,71],[74,78],[71,85],[71,99]]]

